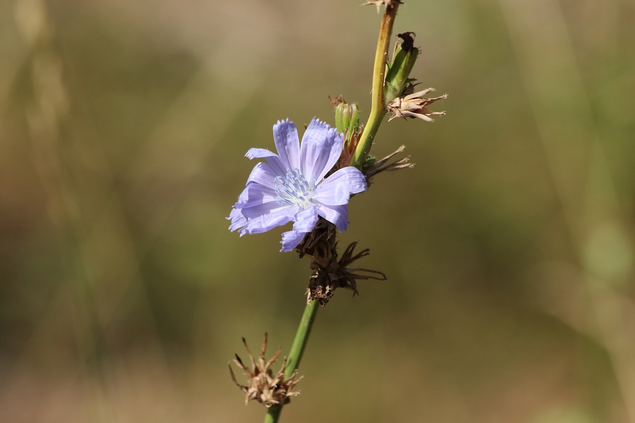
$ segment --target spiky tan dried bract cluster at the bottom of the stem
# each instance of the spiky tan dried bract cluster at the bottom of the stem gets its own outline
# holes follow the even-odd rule
[[[249,347],[247,346],[247,342],[243,338],[244,347],[249,354],[249,358],[251,360],[251,368],[244,365],[243,361],[236,354],[236,359],[234,359],[234,363],[243,369],[244,374],[247,377],[247,384],[241,385],[236,382],[236,377],[234,376],[234,371],[232,370],[231,364],[229,365],[229,373],[231,374],[232,380],[238,386],[241,391],[245,393],[244,403],[247,405],[249,401],[256,400],[265,407],[271,407],[273,405],[283,405],[291,401],[292,396],[296,396],[300,394],[300,391],[293,391],[291,389],[302,380],[302,377],[296,379],[298,375],[298,371],[295,370],[290,377],[284,377],[284,366],[286,365],[286,358],[283,360],[282,367],[276,374],[274,374],[271,370],[271,365],[276,361],[276,359],[280,356],[280,349],[276,351],[276,354],[269,360],[265,361],[265,350],[267,349],[267,333],[265,333],[264,340],[262,341],[262,348],[260,349],[260,354],[258,354],[258,361],[253,358],[253,354]]]

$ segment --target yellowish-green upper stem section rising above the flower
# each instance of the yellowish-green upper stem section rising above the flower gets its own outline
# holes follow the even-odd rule
[[[377,50],[375,51],[375,64],[373,65],[373,97],[371,98],[370,116],[364,126],[364,131],[359,138],[359,143],[351,158],[351,166],[359,167],[366,154],[373,144],[373,139],[382,119],[386,114],[384,98],[384,79],[386,73],[386,60],[388,58],[388,47],[392,34],[392,24],[397,15],[399,3],[386,5],[382,25],[379,28],[379,39],[377,40]]]

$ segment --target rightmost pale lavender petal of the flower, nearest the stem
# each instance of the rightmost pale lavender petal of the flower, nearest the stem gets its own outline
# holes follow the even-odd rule
[[[368,185],[364,174],[359,169],[349,166],[336,171],[319,184],[314,199],[322,204],[340,206],[349,202],[351,194],[366,189]]]

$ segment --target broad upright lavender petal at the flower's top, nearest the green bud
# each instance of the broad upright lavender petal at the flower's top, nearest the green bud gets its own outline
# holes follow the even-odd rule
[[[301,170],[309,183],[314,177],[318,182],[322,180],[340,158],[343,146],[344,135],[315,117],[311,120],[300,146]]]

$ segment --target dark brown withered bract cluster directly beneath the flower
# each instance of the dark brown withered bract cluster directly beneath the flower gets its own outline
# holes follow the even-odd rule
[[[357,243],[352,243],[347,246],[342,257],[338,259],[335,225],[327,220],[320,220],[313,231],[305,236],[296,250],[300,257],[311,257],[313,274],[307,287],[307,303],[317,300],[320,305],[326,305],[337,288],[349,289],[356,295],[357,280],[386,279],[385,274],[379,271],[349,267],[359,258],[370,254],[368,248],[354,254],[356,245]]]

